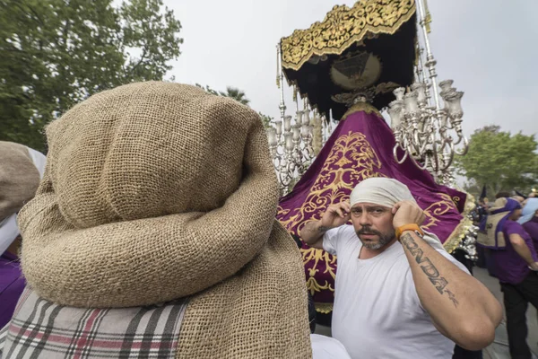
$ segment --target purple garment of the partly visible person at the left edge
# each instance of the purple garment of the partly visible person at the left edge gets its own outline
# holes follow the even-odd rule
[[[7,251],[0,257],[0,328],[11,320],[26,285],[20,266],[17,256]]]

